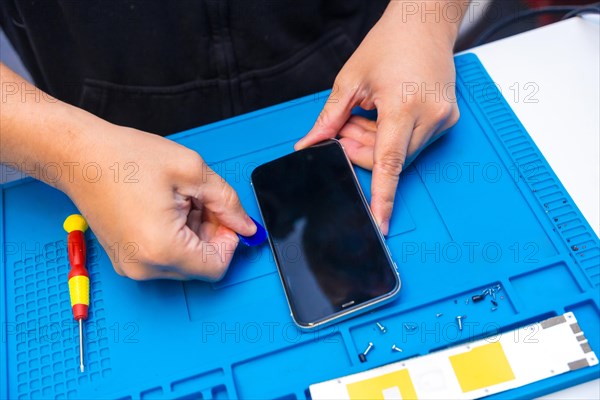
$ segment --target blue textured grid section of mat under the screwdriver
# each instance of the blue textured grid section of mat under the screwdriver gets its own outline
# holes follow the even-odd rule
[[[16,337],[19,398],[76,397],[79,385],[110,374],[108,340],[90,329],[105,324],[102,285],[96,272],[98,250],[96,242],[88,241],[93,299],[86,324],[86,333],[91,335],[86,341],[88,374],[73,370],[79,362],[79,338],[70,309],[66,244],[57,241],[29,249],[24,260],[14,264],[15,319],[9,329]]]

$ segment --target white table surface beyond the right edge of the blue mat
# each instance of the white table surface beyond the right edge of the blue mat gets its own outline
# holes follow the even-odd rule
[[[600,235],[600,19],[571,18],[468,52],[480,58]],[[543,398],[600,399],[600,379]]]

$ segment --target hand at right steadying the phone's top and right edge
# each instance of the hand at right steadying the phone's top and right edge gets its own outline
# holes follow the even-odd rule
[[[311,131],[295,145],[300,150],[340,135],[350,160],[373,170],[371,209],[384,235],[407,157],[459,117],[452,51],[457,24],[401,13],[401,2],[391,2],[337,75]],[[376,108],[377,121],[351,116],[355,106]]]

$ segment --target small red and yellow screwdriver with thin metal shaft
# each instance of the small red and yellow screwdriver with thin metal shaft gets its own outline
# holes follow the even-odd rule
[[[67,236],[69,253],[69,295],[73,318],[79,321],[79,369],[84,371],[83,363],[83,320],[88,317],[90,304],[90,278],[85,268],[85,236],[88,228],[85,219],[79,214],[69,215],[63,223]]]

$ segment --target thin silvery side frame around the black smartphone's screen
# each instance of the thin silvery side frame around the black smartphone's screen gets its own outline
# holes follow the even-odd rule
[[[271,240],[271,234],[269,233],[269,231],[267,230],[267,239],[269,241],[269,247],[271,248],[271,252],[273,253],[273,259],[275,261],[275,265],[277,267],[277,273],[279,275],[279,279],[281,281],[281,285],[283,286],[283,292],[285,294],[285,299],[288,303],[288,309],[290,310],[290,316],[292,317],[292,320],[294,321],[294,324],[296,324],[296,326],[298,328],[300,328],[303,331],[313,331],[315,329],[319,329],[319,328],[325,328],[333,323],[338,323],[338,322],[342,322],[344,320],[347,320],[349,318],[351,318],[352,316],[354,316],[356,313],[359,312],[364,312],[366,311],[366,309],[375,307],[375,306],[379,306],[379,305],[383,305],[386,304],[388,302],[390,302],[400,291],[400,288],[402,287],[402,281],[400,279],[400,273],[398,271],[398,266],[396,265],[396,262],[393,260],[392,255],[390,253],[390,250],[385,242],[385,236],[383,235],[383,233],[381,232],[381,229],[379,228],[379,225],[377,225],[377,223],[375,222],[375,217],[373,216],[373,213],[371,211],[371,207],[369,207],[369,203],[367,202],[367,199],[365,197],[365,194],[362,190],[362,187],[360,186],[360,183],[358,182],[358,177],[356,176],[356,171],[354,171],[354,166],[352,165],[352,162],[350,161],[350,159],[348,158],[348,155],[346,154],[346,151],[344,149],[344,146],[342,145],[342,143],[340,143],[339,140],[337,139],[327,139],[323,142],[319,142],[317,144],[315,144],[314,146],[311,147],[316,147],[319,145],[324,145],[327,144],[329,142],[334,142],[336,143],[342,150],[342,154],[344,155],[344,158],[346,159],[346,162],[348,163],[348,167],[350,168],[350,171],[352,172],[352,177],[354,179],[354,185],[356,186],[359,196],[361,198],[361,201],[363,202],[363,207],[366,209],[367,214],[369,216],[369,219],[371,220],[371,224],[373,225],[375,232],[377,233],[377,237],[379,239],[379,242],[382,246],[383,252],[390,264],[390,267],[392,268],[392,271],[394,272],[394,278],[396,281],[396,284],[394,286],[394,289],[392,289],[390,292],[385,293],[381,296],[375,297],[365,303],[361,303],[358,306],[355,307],[350,307],[347,310],[342,310],[342,311],[338,311],[336,313],[331,314],[329,317],[326,317],[324,319],[315,321],[313,323],[309,323],[309,324],[303,324],[300,323],[295,315],[294,315],[294,311],[292,308],[292,304],[290,302],[290,297],[288,295],[288,290],[287,290],[287,286],[285,284],[284,278],[283,278],[283,272],[281,270],[281,266],[279,265],[279,261],[277,259],[276,256],[276,252],[275,252],[275,247],[273,246],[273,241]],[[302,151],[302,150],[300,150]],[[275,161],[275,160],[273,160]],[[263,164],[264,165],[264,164]],[[260,166],[259,166],[260,167]],[[259,168],[257,167],[257,168]],[[254,172],[254,171],[253,171]],[[264,222],[264,216],[262,213],[262,207],[260,205],[260,201],[258,200],[258,196],[256,194],[256,189],[254,188],[254,181],[252,179],[252,177],[250,178],[250,186],[252,187],[252,193],[254,194],[254,198],[256,199],[256,203],[258,204],[258,212],[260,213],[260,217]]]

